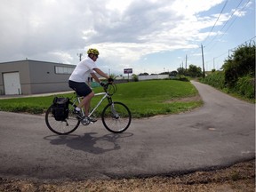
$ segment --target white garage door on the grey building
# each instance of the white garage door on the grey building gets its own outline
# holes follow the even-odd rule
[[[21,94],[19,72],[4,73],[4,92],[6,95]]]

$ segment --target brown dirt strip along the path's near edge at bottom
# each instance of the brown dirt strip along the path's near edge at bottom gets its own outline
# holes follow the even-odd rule
[[[235,164],[212,172],[194,172],[177,177],[122,180],[32,181],[0,179],[0,191],[255,191],[255,161]]]

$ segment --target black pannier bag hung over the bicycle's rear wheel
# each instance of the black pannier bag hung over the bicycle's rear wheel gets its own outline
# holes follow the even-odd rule
[[[52,115],[56,121],[65,121],[68,118],[68,98],[55,97],[52,103]]]

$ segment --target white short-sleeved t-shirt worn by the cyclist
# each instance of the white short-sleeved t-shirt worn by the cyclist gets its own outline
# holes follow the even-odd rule
[[[69,76],[69,80],[74,82],[87,82],[88,77],[91,76],[90,74],[95,73],[93,68],[97,68],[95,62],[87,57],[76,65],[71,76]]]

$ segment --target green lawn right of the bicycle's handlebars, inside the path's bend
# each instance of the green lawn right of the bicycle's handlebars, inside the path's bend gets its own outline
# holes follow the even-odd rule
[[[188,83],[172,80],[144,81],[118,86],[114,99],[122,100],[132,110],[133,117],[176,114],[201,105],[198,101],[175,101],[198,94]],[[171,101],[172,102],[166,102]]]

